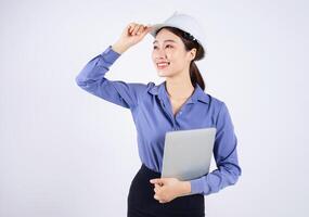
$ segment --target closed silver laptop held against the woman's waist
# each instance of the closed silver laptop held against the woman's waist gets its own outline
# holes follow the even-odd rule
[[[209,171],[216,128],[168,131],[165,135],[162,177],[185,181]]]

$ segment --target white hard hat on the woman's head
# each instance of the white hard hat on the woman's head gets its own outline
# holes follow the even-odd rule
[[[204,51],[206,51],[206,37],[201,24],[193,17],[184,13],[179,13],[176,11],[169,18],[167,18],[164,23],[152,25],[153,29],[150,34],[155,37],[156,31],[164,26],[171,26],[179,28],[191,36],[193,36],[197,42],[203,47]]]

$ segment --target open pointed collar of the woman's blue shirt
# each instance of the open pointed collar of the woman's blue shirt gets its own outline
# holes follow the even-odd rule
[[[166,80],[160,82],[158,86],[153,86],[149,92],[158,95],[160,100],[167,99]],[[195,103],[197,101],[209,103],[209,95],[204,92],[198,84],[196,84],[194,92],[186,103]]]

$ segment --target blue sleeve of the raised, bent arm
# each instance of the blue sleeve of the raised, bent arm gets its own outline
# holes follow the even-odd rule
[[[94,56],[83,66],[75,80],[80,88],[91,94],[123,107],[133,108],[138,105],[139,93],[146,88],[146,85],[110,80],[105,77],[110,67],[119,56],[120,54],[114,51],[112,46],[108,46],[104,52]]]

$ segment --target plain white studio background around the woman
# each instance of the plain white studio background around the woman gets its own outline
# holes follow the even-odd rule
[[[308,216],[308,1],[130,2],[1,1],[0,216],[126,216],[141,164],[131,114],[75,77],[128,23],[159,23],[176,10],[205,27],[197,65],[239,138],[243,175],[205,197],[206,216]],[[106,77],[163,81],[152,41]]]

